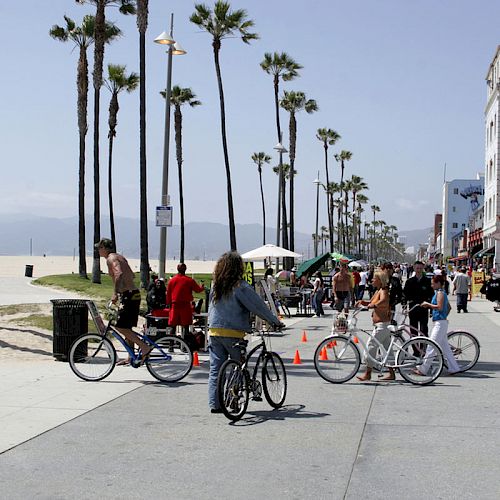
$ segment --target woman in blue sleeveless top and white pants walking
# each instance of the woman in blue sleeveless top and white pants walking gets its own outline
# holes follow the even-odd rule
[[[431,302],[422,302],[421,306],[432,310],[432,331],[429,335],[431,340],[434,340],[441,350],[446,359],[446,364],[448,367],[448,374],[454,375],[460,372],[460,367],[458,366],[455,356],[448,342],[448,296],[444,291],[444,277],[441,274],[434,275],[432,277],[432,288],[434,290],[434,296]],[[415,370],[417,375],[426,375],[429,371],[432,359],[434,356],[434,348],[431,346],[427,347],[427,351],[424,356],[424,361],[420,367]]]

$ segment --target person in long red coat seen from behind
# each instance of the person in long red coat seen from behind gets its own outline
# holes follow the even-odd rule
[[[177,274],[170,279],[167,286],[168,326],[175,334],[177,326],[184,327],[184,334],[189,331],[189,325],[193,323],[193,292],[203,292],[203,285],[186,276],[186,264],[177,266]]]

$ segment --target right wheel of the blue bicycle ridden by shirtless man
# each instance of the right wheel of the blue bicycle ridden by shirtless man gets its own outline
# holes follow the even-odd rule
[[[193,367],[193,353],[180,337],[159,338],[146,358],[146,368],[160,382],[178,382]]]

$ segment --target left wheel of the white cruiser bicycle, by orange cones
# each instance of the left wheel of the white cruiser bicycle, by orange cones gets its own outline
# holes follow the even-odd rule
[[[326,355],[325,355],[326,352]],[[320,342],[314,353],[314,367],[327,382],[342,384],[359,370],[361,356],[356,345],[347,337],[334,335]]]

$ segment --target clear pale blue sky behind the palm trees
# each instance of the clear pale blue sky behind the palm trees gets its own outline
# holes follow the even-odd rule
[[[173,83],[191,87],[203,106],[184,112],[186,219],[226,222],[225,173],[211,40],[188,18],[194,2],[150,0],[147,38],[149,213],[160,200],[166,56],[153,39],[175,13],[175,38],[188,51],[174,60]],[[213,2],[209,2],[213,5]],[[298,115],[296,227],[314,232],[315,187],[323,151],[316,129],[329,127],[348,149],[347,176],[370,186],[369,205],[399,229],[432,225],[447,177],[472,178],[484,163],[484,106],[488,65],[500,42],[500,3],[463,0],[257,0],[233,2],[255,21],[261,39],[247,46],[224,40],[221,51],[235,213],[238,223],[261,222],[254,151],[274,154],[271,77],[259,67],[264,52],[286,51],[304,66],[285,84],[317,100],[320,111]],[[0,213],[67,217],[77,213],[78,131],[76,62],[72,46],[52,40],[50,27],[67,14],[81,22],[92,6],[73,0],[0,3]],[[106,63],[138,71],[135,17],[115,8],[107,17],[124,37],[106,48]],[[90,54],[92,59],[92,54]],[[138,217],[138,91],[122,95],[115,141],[116,214]],[[109,92],[102,91],[102,211],[107,213],[106,156]],[[92,112],[92,90],[89,94]],[[288,116],[282,113],[287,130]],[[172,135],[173,143],[173,135]],[[287,146],[287,134],[284,139]],[[87,141],[87,205],[92,213],[92,119]],[[174,149],[172,148],[172,152]],[[276,156],[274,163],[277,163]],[[339,179],[331,157],[331,177]],[[177,204],[175,155],[170,192]],[[275,225],[277,180],[264,175],[268,221]],[[323,205],[324,206],[324,203]],[[370,214],[368,214],[369,216]],[[326,213],[321,214],[326,223]],[[89,217],[88,223],[91,223]],[[176,219],[176,223],[178,220]],[[103,233],[107,228],[102,229]]]

